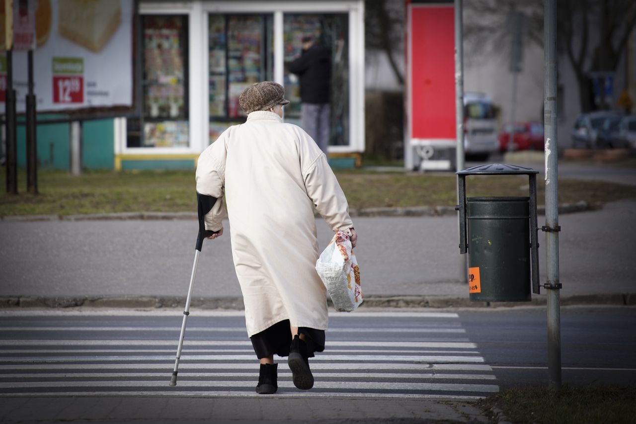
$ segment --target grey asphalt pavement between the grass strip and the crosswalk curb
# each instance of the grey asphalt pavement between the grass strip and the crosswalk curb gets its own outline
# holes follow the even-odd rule
[[[539,226],[543,225],[539,217]],[[467,297],[459,283],[457,218],[356,218],[356,255],[366,295]],[[562,296],[633,293],[636,200],[561,215]],[[317,221],[324,246],[331,232]],[[229,225],[228,225],[229,227]],[[231,230],[231,229],[230,229]],[[0,222],[0,296],[184,297],[196,222]],[[539,232],[539,244],[545,246]],[[539,248],[541,281],[546,251]],[[229,234],[205,241],[195,297],[240,297]]]

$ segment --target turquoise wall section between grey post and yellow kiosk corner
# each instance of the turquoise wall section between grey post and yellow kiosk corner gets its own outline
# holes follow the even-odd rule
[[[81,164],[86,169],[114,169],[114,122],[112,119],[82,123]]]

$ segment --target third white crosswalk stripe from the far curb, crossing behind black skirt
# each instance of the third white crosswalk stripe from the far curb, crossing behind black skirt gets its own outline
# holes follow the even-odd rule
[[[0,346],[171,346],[176,348],[177,339],[171,340],[126,340],[126,339],[107,339],[107,340],[78,340],[78,339],[5,339],[0,340]],[[184,340],[185,347],[189,346],[252,346],[249,340]],[[477,345],[466,341],[452,339],[452,341],[331,341],[329,346],[342,347],[403,347],[403,348],[453,348],[453,349],[476,349]]]

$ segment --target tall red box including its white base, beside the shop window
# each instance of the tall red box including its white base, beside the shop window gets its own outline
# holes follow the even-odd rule
[[[455,125],[455,17],[452,2],[406,0],[407,169],[452,169]]]

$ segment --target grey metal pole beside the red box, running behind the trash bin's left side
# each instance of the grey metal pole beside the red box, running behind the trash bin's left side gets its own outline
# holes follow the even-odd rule
[[[464,169],[464,48],[462,42],[462,0],[455,0],[455,121],[457,129],[457,148],[455,149],[455,171]],[[457,176],[459,178],[459,176]],[[462,199],[459,196],[459,184],[457,188],[457,204]],[[459,216],[457,217],[459,220]],[[457,225],[459,229],[461,223]],[[468,283],[467,256],[459,255],[459,281]]]

